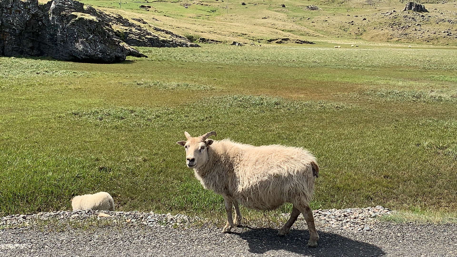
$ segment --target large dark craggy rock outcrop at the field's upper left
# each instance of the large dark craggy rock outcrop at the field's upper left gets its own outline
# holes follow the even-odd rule
[[[195,46],[185,37],[169,33],[170,40],[160,39],[122,16],[72,0],[53,0],[45,5],[38,5],[37,0],[0,0],[3,56],[113,63],[128,55],[145,57],[131,46]]]

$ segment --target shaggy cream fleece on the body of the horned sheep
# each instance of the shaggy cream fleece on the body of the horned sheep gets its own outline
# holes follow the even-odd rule
[[[195,169],[203,187],[256,210],[283,203],[309,205],[313,198],[314,156],[282,145],[253,146],[228,139],[208,147],[208,161]]]

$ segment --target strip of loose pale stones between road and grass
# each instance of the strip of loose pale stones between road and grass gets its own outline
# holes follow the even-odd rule
[[[342,230],[370,230],[370,225],[379,222],[376,217],[393,213],[389,209],[381,206],[353,209],[319,209],[314,210],[314,219],[318,227],[333,227]],[[290,214],[282,214],[288,218]],[[40,212],[38,214],[11,214],[0,218],[1,228],[13,228],[17,226],[33,226],[46,220],[54,220],[59,223],[84,222],[90,220],[106,220],[113,224],[135,225],[145,227],[170,227],[186,228],[196,224],[211,225],[207,219],[200,217],[189,217],[187,215],[176,214],[155,214],[154,212],[114,212],[114,211],[54,211]],[[298,222],[304,222],[300,216]],[[242,221],[244,223],[244,221]],[[250,224],[246,224],[250,225]],[[281,224],[282,225],[282,224]],[[293,227],[292,227],[293,229]]]

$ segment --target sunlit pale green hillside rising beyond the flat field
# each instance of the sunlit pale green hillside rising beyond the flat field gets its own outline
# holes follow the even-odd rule
[[[246,5],[233,0],[122,0],[122,8],[118,0],[81,2],[128,18],[143,18],[148,22],[145,27],[228,43],[287,43],[279,39],[289,38],[288,43],[308,39],[340,44],[457,45],[455,1],[426,2],[428,13],[403,11],[406,1],[398,0],[252,0],[245,1]],[[319,9],[310,11],[309,5]]]

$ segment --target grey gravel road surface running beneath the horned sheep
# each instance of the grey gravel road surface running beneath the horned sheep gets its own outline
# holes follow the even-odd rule
[[[345,211],[340,211],[342,213]],[[113,213],[111,215],[114,216]],[[366,224],[362,225],[364,229],[351,230],[345,222],[337,225],[321,222],[324,218],[320,219],[318,215],[319,246],[308,248],[308,230],[303,219],[297,221],[289,235],[278,237],[276,228],[239,227],[230,234],[222,234],[220,228],[212,225],[173,228],[160,221],[157,218],[159,214],[145,215],[149,215],[145,219],[154,219],[154,222],[159,220],[158,223],[141,225],[129,221],[90,226],[89,229],[62,226],[65,223],[59,223],[54,229],[49,229],[49,226],[55,224],[1,229],[0,256],[457,256],[455,224],[394,224],[367,218],[364,219]],[[163,215],[160,217],[166,217]],[[328,212],[328,215],[336,217],[335,211]],[[56,216],[66,217],[67,214],[58,213]],[[69,212],[68,217],[71,216],[76,218]],[[110,219],[105,216],[98,216],[97,219]],[[4,217],[4,220],[7,219],[13,217]],[[125,217],[120,219],[124,220]],[[32,219],[28,220],[31,222]]]

